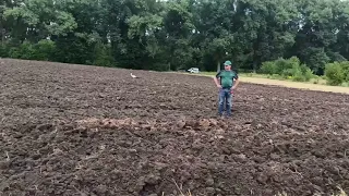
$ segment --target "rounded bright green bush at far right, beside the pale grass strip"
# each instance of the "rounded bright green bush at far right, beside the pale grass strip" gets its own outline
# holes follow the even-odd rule
[[[328,63],[325,66],[325,75],[329,85],[340,85],[346,79],[344,66],[339,62]]]

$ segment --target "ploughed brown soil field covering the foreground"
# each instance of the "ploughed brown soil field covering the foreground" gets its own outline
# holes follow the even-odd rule
[[[131,77],[131,72],[139,76]],[[349,193],[349,96],[0,60],[0,195]]]

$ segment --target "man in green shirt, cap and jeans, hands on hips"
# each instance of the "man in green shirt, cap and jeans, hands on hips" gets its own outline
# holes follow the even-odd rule
[[[225,62],[225,70],[218,72],[214,81],[219,88],[218,114],[222,114],[224,103],[226,102],[227,115],[231,117],[232,93],[239,84],[239,76],[231,70],[230,61]]]

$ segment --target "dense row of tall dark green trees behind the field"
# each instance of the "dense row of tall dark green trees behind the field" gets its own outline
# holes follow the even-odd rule
[[[144,70],[349,59],[341,0],[3,0],[0,56]]]

